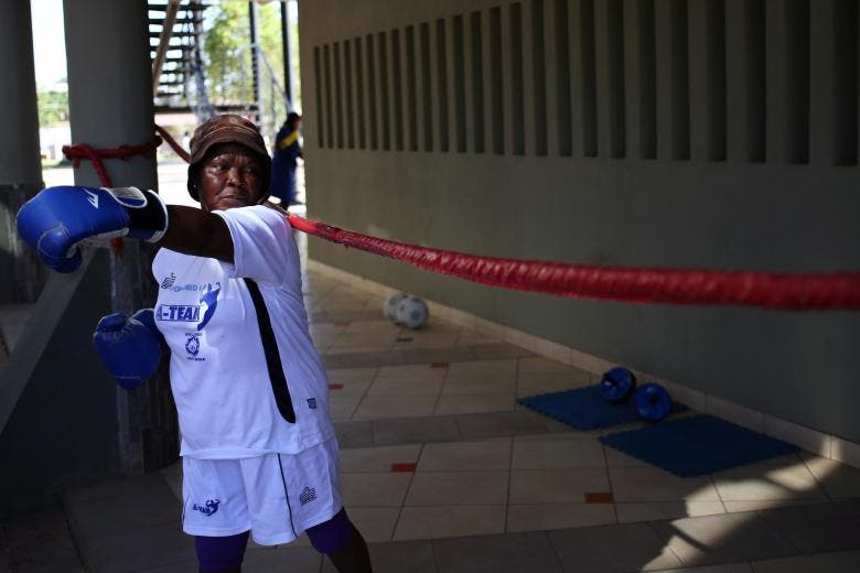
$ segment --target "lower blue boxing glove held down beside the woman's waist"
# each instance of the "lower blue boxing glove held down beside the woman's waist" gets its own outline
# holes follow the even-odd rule
[[[93,343],[117,383],[132,390],[158,368],[164,338],[155,327],[152,309],[142,309],[131,317],[115,313],[101,318]]]

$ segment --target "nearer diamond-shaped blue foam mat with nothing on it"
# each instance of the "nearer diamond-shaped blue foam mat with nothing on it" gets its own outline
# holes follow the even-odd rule
[[[603,435],[599,440],[681,477],[710,474],[798,450],[781,440],[705,414]]]

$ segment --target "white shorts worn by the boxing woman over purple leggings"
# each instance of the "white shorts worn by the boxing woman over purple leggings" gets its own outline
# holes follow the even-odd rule
[[[261,545],[289,543],[341,510],[337,440],[299,454],[182,458],[182,530],[225,537],[250,530]]]

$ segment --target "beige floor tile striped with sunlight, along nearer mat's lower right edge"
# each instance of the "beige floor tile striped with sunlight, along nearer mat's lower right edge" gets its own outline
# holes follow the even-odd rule
[[[712,477],[723,501],[827,497],[809,468],[797,456],[728,469]]]

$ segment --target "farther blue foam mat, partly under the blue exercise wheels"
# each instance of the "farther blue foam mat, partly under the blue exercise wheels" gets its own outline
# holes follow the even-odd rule
[[[633,400],[621,404],[610,403],[601,396],[600,386],[527,396],[517,402],[579,430],[595,430],[642,420],[636,413]],[[686,406],[671,403],[673,412],[686,409]]]

